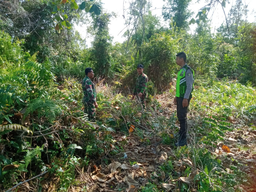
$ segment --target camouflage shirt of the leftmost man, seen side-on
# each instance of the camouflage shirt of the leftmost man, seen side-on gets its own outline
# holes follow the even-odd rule
[[[82,81],[82,89],[84,92],[84,99],[86,100],[86,102],[94,103],[97,97],[95,84],[93,84],[91,79],[87,76],[84,77]]]

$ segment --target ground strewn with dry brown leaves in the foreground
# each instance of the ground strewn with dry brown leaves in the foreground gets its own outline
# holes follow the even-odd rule
[[[155,111],[156,117],[165,116],[169,119],[176,113],[176,106],[172,103],[173,98],[170,94],[156,95],[156,99],[161,104],[161,108]],[[141,116],[141,113],[137,115]],[[235,185],[236,191],[255,191],[256,130],[248,126],[234,128],[225,132],[223,140],[215,140],[212,145],[205,145],[202,141],[196,142],[195,137],[200,136],[200,131],[196,130],[194,125],[196,121],[193,118],[197,117],[190,111],[188,146],[179,148],[174,147],[177,131],[173,129],[165,128],[163,131],[157,129],[157,126],[152,129],[143,123],[130,122],[130,127],[127,127],[129,133],[112,132],[114,143],[111,144],[111,149],[105,151],[99,159],[92,159],[88,167],[77,168],[79,174],[76,181],[80,184],[72,186],[69,191],[80,191],[85,183],[89,192],[178,192],[184,189],[202,191],[197,184],[200,180],[202,182],[202,178],[196,177],[200,172],[203,172],[209,180],[209,188],[205,185],[206,189],[204,188],[203,191],[213,191],[213,189],[225,191],[225,185],[228,187],[230,183],[237,180],[242,182]],[[229,121],[231,124],[236,124],[235,119]],[[177,120],[175,124],[179,126]],[[220,166],[216,164],[211,169],[207,166],[205,168],[206,162],[202,162],[200,158],[198,160],[201,149],[209,152],[210,158],[205,157],[204,160],[212,162],[217,160]],[[246,173],[247,176],[237,173],[236,167],[239,167],[239,171]],[[218,173],[214,169],[219,169]],[[230,175],[231,177],[228,178],[231,179],[226,180],[224,175]],[[235,179],[233,178],[232,181],[233,176]],[[221,183],[218,183],[218,179]],[[230,183],[226,184],[225,181]]]

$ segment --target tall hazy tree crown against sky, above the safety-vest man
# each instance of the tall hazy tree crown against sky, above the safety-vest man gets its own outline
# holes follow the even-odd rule
[[[191,0],[167,0],[162,9],[164,20],[171,21],[171,26],[188,29],[188,19],[193,14],[188,10],[190,2]]]

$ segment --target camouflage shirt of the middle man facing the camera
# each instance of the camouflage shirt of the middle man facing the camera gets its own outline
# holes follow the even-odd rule
[[[148,97],[148,76],[142,73],[136,79],[135,88],[133,90],[133,95],[137,95],[140,92],[143,93],[143,96]]]

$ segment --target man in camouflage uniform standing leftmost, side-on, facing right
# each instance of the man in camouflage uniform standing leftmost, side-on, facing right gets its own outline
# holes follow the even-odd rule
[[[82,81],[84,113],[88,114],[89,120],[95,121],[95,108],[98,108],[98,104],[96,102],[95,84],[91,81],[94,76],[92,68],[86,68],[85,75],[86,77]]]

